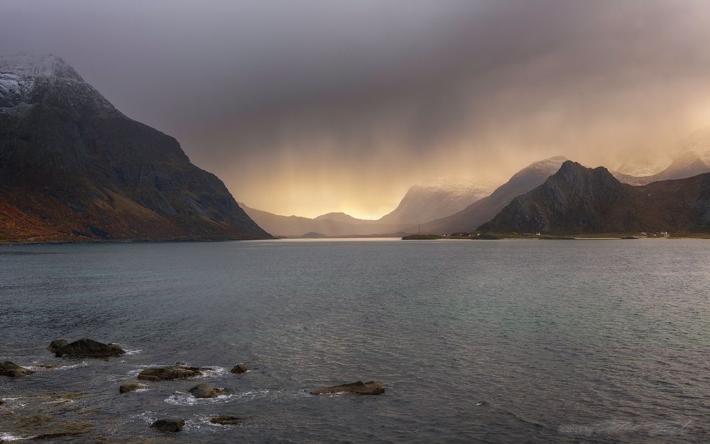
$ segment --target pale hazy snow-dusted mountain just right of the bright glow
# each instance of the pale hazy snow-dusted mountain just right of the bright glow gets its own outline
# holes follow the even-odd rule
[[[379,222],[388,224],[418,224],[453,215],[476,200],[491,194],[491,190],[471,183],[432,183],[411,187],[399,205]]]

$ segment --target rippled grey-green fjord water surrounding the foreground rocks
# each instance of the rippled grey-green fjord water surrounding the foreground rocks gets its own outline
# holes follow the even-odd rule
[[[0,439],[704,443],[709,256],[702,240],[0,247],[0,360],[37,370],[0,379]],[[45,350],[80,337],[129,354]],[[119,394],[175,362],[212,371]],[[371,379],[386,393],[309,394]],[[198,381],[233,392],[192,399]],[[181,433],[148,428],[170,416]]]

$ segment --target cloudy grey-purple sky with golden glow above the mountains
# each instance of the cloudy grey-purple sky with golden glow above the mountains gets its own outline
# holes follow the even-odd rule
[[[710,126],[708,48],[704,0],[0,0],[0,54],[64,58],[240,202],[308,217],[665,163]]]

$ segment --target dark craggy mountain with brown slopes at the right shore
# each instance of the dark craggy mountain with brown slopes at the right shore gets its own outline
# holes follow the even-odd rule
[[[572,161],[535,190],[516,197],[488,232],[554,234],[710,232],[710,173],[632,186],[606,168]]]

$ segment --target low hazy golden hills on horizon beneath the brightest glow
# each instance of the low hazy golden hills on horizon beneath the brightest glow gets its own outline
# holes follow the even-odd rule
[[[305,237],[320,234],[324,237],[371,236],[416,232],[410,224],[383,224],[377,220],[363,220],[344,213],[328,213],[311,219],[300,216],[281,216],[256,210],[240,203],[246,214],[275,236]]]

